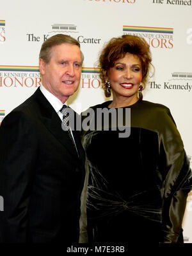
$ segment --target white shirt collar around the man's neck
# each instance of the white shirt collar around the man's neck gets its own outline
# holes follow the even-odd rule
[[[61,107],[63,106],[63,103],[61,102],[61,100],[59,100],[56,96],[50,93],[50,91],[45,89],[43,85],[40,86],[40,90],[45,96],[45,98],[47,98],[48,102],[52,105],[56,113],[58,113]],[[65,102],[65,105],[67,105],[67,102]]]

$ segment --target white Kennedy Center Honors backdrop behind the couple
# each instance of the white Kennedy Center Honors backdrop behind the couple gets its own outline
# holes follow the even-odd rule
[[[143,99],[168,106],[192,161],[192,0],[6,0],[0,5],[0,122],[40,86],[42,43],[64,33],[84,53],[81,84],[68,104],[81,113],[104,102],[97,57],[112,37],[144,37],[155,72]],[[184,241],[192,242],[192,194]]]

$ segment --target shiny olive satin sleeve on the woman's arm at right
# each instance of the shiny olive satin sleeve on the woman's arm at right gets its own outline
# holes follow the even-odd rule
[[[166,109],[163,128],[159,132],[159,151],[164,167],[161,196],[163,242],[176,243],[182,232],[186,199],[192,188],[192,174],[184,145],[172,114]]]

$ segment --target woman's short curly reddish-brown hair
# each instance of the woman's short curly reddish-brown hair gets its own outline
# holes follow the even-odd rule
[[[113,37],[102,49],[99,57],[100,78],[105,82],[105,74],[115,65],[115,61],[125,57],[126,53],[136,55],[141,61],[142,82],[145,84],[148,77],[149,66],[152,65],[150,48],[143,39],[136,35],[122,35]]]

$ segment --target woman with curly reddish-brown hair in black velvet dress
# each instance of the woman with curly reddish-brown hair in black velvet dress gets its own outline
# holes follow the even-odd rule
[[[111,39],[100,53],[100,78],[113,100],[88,109],[92,117],[82,134],[88,242],[182,242],[191,169],[168,107],[142,99],[150,66],[148,44],[134,35]],[[104,115],[98,128],[99,109],[115,111],[124,123],[131,112],[130,134],[120,135],[113,114],[108,129]]]

